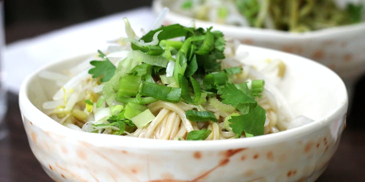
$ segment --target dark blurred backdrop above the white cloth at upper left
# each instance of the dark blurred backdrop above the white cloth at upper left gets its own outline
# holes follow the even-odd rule
[[[6,43],[137,7],[152,0],[5,0]]]

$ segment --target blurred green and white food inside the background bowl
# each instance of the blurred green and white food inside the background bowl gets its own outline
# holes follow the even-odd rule
[[[210,22],[302,32],[361,22],[363,5],[350,0],[177,0],[172,7]]]

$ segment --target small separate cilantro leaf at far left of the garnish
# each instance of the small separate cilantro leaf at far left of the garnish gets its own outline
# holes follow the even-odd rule
[[[100,50],[97,50],[99,53],[99,57],[103,58],[103,61],[90,61],[90,64],[94,67],[88,70],[89,74],[92,74],[92,78],[97,78],[102,76],[100,79],[101,82],[107,82],[114,75],[116,70],[113,63],[109,61],[109,59],[102,53]]]

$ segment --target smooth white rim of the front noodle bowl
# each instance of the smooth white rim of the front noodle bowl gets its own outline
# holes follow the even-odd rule
[[[338,79],[338,84],[343,91],[343,103],[338,104],[331,112],[323,116],[321,119],[316,120],[312,123],[306,124],[304,126],[289,129],[286,131],[281,131],[278,133],[255,136],[250,138],[232,139],[232,140],[212,140],[212,141],[171,141],[171,140],[155,140],[155,139],[144,139],[135,138],[128,136],[116,136],[116,135],[100,135],[95,133],[87,133],[81,131],[75,131],[64,127],[58,122],[52,120],[46,114],[37,109],[28,98],[28,87],[30,87],[30,82],[41,70],[54,67],[61,62],[72,61],[80,59],[81,57],[86,57],[85,55],[72,57],[69,59],[58,60],[55,62],[48,63],[43,67],[39,68],[37,71],[28,75],[22,82],[19,90],[19,108],[22,115],[23,125],[26,124],[26,120],[32,122],[32,126],[37,127],[41,132],[47,133],[47,135],[61,136],[60,138],[68,138],[70,140],[80,140],[94,146],[105,147],[105,148],[115,148],[115,149],[144,149],[144,150],[163,150],[163,151],[213,151],[213,150],[228,150],[236,148],[249,148],[258,146],[267,146],[272,144],[277,144],[285,141],[289,141],[293,138],[300,138],[306,135],[310,135],[317,130],[329,125],[335,120],[342,119],[346,116],[346,111],[348,107],[348,98],[346,87],[341,80],[341,78],[334,73],[329,68],[307,59],[302,56],[285,53],[282,51],[256,47],[251,45],[243,45],[248,49],[257,50],[257,52],[268,52],[275,54],[277,57],[289,56],[292,59],[301,62],[310,62],[313,66],[318,66],[323,71],[330,72],[328,74],[333,74],[335,79]],[[88,54],[90,55],[90,54]],[[44,124],[46,123],[46,124]],[[25,127],[27,131],[27,127]],[[37,132],[39,132],[37,130]]]

